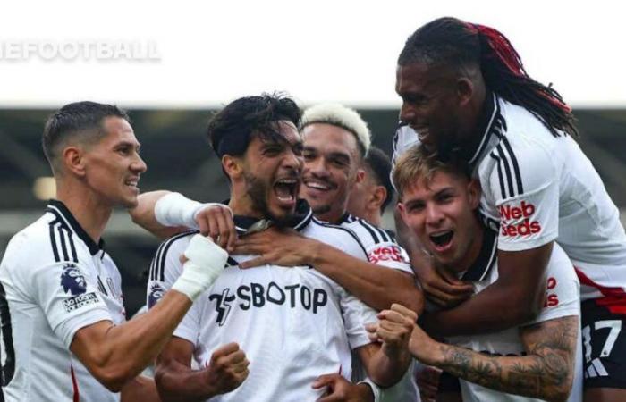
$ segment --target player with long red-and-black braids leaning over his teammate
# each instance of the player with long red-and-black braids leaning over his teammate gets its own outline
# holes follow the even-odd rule
[[[401,120],[418,133],[412,141],[469,163],[482,186],[479,211],[498,230],[497,281],[460,306],[425,317],[425,329],[449,336],[534,319],[558,242],[582,285],[585,398],[626,400],[626,235],[573,138],[570,107],[528,76],[500,32],[453,18],[410,36],[396,79]],[[399,146],[411,141],[396,139],[400,154]],[[437,241],[444,247],[454,236],[446,232]],[[444,281],[415,247],[410,256],[430,297],[444,301],[467,291]]]

